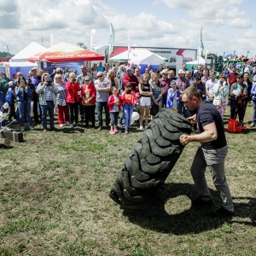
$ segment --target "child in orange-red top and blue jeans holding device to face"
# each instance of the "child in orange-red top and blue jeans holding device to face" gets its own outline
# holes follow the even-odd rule
[[[125,134],[128,134],[131,126],[131,114],[137,101],[137,96],[134,90],[131,90],[130,83],[126,84],[126,88],[121,96],[121,100],[123,101],[123,109],[125,113]]]

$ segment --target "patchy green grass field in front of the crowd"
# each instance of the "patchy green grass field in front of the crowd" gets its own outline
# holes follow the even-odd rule
[[[249,105],[246,125],[252,114]],[[256,255],[255,131],[226,133],[232,219],[191,207],[196,143],[147,211],[124,212],[108,194],[140,131],[26,131],[24,143],[0,149],[0,255]],[[207,180],[218,207],[210,172]]]

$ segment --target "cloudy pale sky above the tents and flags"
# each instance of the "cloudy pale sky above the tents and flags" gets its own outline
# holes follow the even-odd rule
[[[1,0],[0,51],[16,54],[32,41],[50,46],[84,43],[90,48],[90,28],[96,29],[94,46],[108,45],[113,24],[116,46],[198,49],[210,53],[255,55],[256,1],[253,0]]]

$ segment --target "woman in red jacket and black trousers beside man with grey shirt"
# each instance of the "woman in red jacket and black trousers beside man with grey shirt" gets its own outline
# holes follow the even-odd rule
[[[96,88],[91,83],[89,76],[86,76],[84,80],[85,84],[81,88],[82,104],[84,105],[84,128],[88,128],[89,121],[91,128],[95,128]]]

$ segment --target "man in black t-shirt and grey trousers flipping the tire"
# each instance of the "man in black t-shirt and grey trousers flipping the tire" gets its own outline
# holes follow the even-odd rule
[[[200,92],[195,87],[184,90],[182,100],[190,111],[196,112],[194,116],[189,117],[189,120],[192,124],[197,122],[200,131],[199,134],[183,134],[180,137],[182,145],[191,142],[201,143],[190,169],[197,193],[200,196],[194,201],[195,206],[212,205],[212,195],[205,177],[206,168],[209,166],[213,183],[222,201],[221,208],[217,212],[213,212],[213,216],[219,218],[231,217],[234,213],[234,205],[224,172],[224,160],[228,153],[228,146],[221,115],[212,103],[201,100]]]

